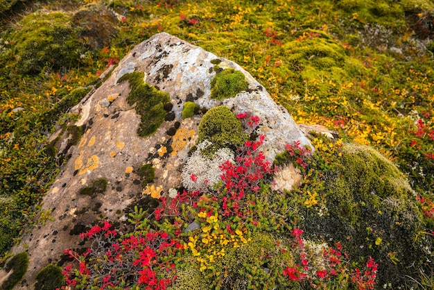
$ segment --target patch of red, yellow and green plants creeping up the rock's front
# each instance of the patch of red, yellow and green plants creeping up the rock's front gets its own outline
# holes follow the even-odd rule
[[[180,190],[175,198],[162,197],[153,223],[136,208],[130,214],[134,230],[128,234],[119,234],[108,221],[81,234],[91,246],[80,254],[65,250],[76,261],[64,268],[67,285],[78,289],[373,289],[378,265],[372,258],[364,267],[349,266],[340,243],[331,246],[302,236],[303,230],[295,227],[302,196],[270,189],[278,167],[261,151],[266,137],[254,134],[259,118],[243,113],[236,119],[244,136],[251,138],[227,160],[220,160],[218,182],[207,186],[200,179],[202,172],[189,171],[185,178],[191,184],[200,182],[200,187]],[[300,169],[307,172],[313,167],[309,151],[298,142],[286,149],[284,155]],[[290,197],[300,201],[288,201]]]

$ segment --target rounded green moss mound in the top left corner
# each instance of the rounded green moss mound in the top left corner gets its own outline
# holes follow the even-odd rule
[[[44,67],[60,69],[75,66],[85,52],[79,31],[65,12],[37,11],[19,22],[12,37],[17,69],[22,74],[37,74]]]

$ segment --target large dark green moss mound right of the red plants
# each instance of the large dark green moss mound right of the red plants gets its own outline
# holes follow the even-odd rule
[[[379,263],[381,286],[391,283],[397,289],[410,282],[410,272],[428,270],[431,237],[421,234],[426,222],[403,174],[367,146],[345,146],[338,162],[339,169],[325,178],[328,214],[309,211],[306,232],[342,242],[361,264],[372,256]]]

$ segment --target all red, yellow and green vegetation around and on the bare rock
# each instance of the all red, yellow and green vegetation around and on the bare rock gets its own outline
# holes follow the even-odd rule
[[[65,284],[433,289],[433,1],[0,0],[0,15],[3,270],[13,268],[10,246],[40,223],[41,198],[67,162],[50,134],[62,128],[79,138],[80,129],[67,126],[77,118],[69,108],[134,45],[166,31],[237,62],[297,122],[320,123],[340,139],[313,136],[314,153],[288,144],[273,167],[249,125],[260,120],[211,110],[217,120],[241,122],[225,142],[218,136],[225,130],[211,140],[207,130],[216,124],[202,123],[200,142],[214,144],[205,157],[223,148],[234,154],[222,181],[200,194],[180,190],[175,202],[160,199],[153,216],[135,210],[128,234],[109,221],[83,233],[110,253],[67,250],[77,263],[63,265]],[[230,94],[245,89],[229,72],[214,81],[217,99],[227,97],[220,86],[227,78],[238,84]],[[133,92],[161,93],[142,79],[125,76]],[[166,114],[165,101],[150,100],[137,104],[143,136]],[[289,162],[302,172],[301,185],[272,191],[272,174]],[[142,171],[145,183],[153,180]],[[193,221],[200,228],[184,232]],[[58,268],[40,277],[48,271]]]

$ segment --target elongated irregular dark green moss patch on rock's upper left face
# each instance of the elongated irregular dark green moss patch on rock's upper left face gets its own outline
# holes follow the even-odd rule
[[[118,82],[128,80],[131,92],[127,101],[130,105],[137,103],[135,109],[141,116],[141,123],[137,129],[137,135],[148,137],[153,135],[164,122],[167,112],[164,104],[171,101],[166,92],[159,91],[155,87],[144,83],[144,73],[134,71],[119,78]]]

